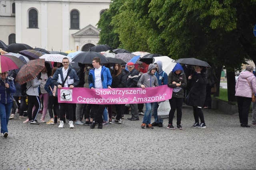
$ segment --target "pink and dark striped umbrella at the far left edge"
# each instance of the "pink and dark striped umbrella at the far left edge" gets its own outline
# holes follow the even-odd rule
[[[0,72],[22,67],[25,63],[12,55],[0,55]]]

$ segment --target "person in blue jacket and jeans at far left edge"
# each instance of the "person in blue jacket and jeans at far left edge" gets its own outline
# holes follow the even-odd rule
[[[4,138],[8,137],[8,121],[10,111],[12,109],[12,94],[16,89],[13,78],[8,77],[8,71],[0,73],[0,119],[1,119],[1,133]]]

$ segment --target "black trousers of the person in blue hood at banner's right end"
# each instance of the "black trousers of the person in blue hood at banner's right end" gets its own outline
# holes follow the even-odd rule
[[[183,98],[169,99],[171,110],[169,112],[169,124],[172,124],[175,110],[177,110],[177,125],[181,123]]]

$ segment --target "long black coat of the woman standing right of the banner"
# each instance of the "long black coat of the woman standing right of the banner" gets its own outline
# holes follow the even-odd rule
[[[188,80],[191,85],[189,106],[203,107],[206,97],[206,74],[194,73],[192,79]]]

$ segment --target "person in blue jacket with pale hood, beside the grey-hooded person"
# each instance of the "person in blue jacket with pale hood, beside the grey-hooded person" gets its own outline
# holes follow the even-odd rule
[[[163,65],[162,61],[156,61],[156,63],[154,63],[154,64],[156,65],[156,68],[157,68],[155,76],[158,80],[158,85],[162,86],[162,85],[168,84],[168,75],[166,74],[166,72],[164,72],[164,70],[162,70],[162,65]],[[154,104],[152,106],[152,112],[154,114],[155,122],[152,123],[152,126],[163,127],[164,119],[158,119],[157,109],[158,109],[158,104],[157,104],[157,102],[154,102]]]

